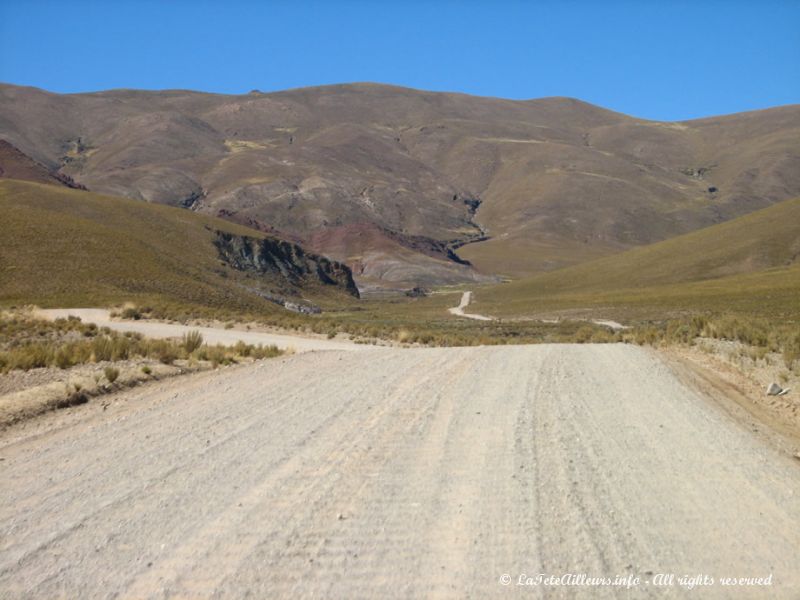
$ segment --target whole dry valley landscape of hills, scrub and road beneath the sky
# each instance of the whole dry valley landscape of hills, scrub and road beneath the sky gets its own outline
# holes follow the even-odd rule
[[[798,198],[797,105],[2,84],[0,595],[794,598]]]

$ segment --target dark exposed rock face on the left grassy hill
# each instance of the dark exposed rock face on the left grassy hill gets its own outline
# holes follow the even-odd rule
[[[359,297],[353,273],[342,263],[308,254],[297,244],[275,238],[257,239],[216,232],[220,258],[239,271],[280,273],[293,285],[322,283]]]

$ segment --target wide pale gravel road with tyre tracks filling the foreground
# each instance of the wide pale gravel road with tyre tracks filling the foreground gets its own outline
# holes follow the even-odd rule
[[[51,413],[0,459],[3,598],[800,597],[800,465],[637,347],[281,357]],[[773,585],[516,585],[539,573]]]

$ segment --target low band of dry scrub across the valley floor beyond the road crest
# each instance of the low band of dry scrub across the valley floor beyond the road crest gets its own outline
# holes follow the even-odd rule
[[[692,345],[702,338],[741,342],[758,352],[777,352],[785,357],[787,368],[800,359],[800,321],[778,316],[760,316],[749,311],[711,312],[687,307],[682,316],[625,320],[628,329],[613,330],[593,323],[593,316],[615,311],[581,311],[569,316],[551,314],[549,319],[505,317],[495,321],[473,321],[447,314],[457,303],[460,291],[447,291],[426,298],[393,297],[362,300],[357,306],[339,307],[322,315],[287,313],[282,318],[254,312],[215,310],[204,307],[152,303],[119,309],[116,314],[128,319],[172,320],[184,324],[233,322],[250,326],[277,327],[306,334],[348,336],[356,343],[395,343],[421,346],[477,346],[536,343],[633,343],[640,345]],[[480,306],[470,310],[480,312]],[[669,314],[669,313],[667,313]],[[619,317],[624,318],[624,317]],[[552,322],[550,322],[552,321]]]

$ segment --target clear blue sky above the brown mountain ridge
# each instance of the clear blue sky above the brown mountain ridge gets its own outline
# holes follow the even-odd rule
[[[374,81],[677,120],[800,102],[800,0],[0,0],[0,81],[222,93]]]

